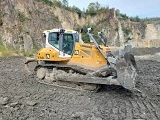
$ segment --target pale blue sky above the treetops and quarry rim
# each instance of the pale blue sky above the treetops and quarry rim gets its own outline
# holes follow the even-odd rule
[[[160,0],[68,0],[69,6],[75,5],[83,10],[89,3],[97,2],[101,6],[119,9],[120,13],[139,18],[160,17]]]

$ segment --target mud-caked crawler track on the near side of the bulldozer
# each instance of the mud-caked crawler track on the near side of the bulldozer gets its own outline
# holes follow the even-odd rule
[[[86,70],[78,66],[44,64],[36,66],[34,70],[35,78],[38,76],[37,81],[42,84],[94,92],[97,92],[100,88],[99,84],[63,81],[63,78],[71,79],[71,77],[80,77],[83,79],[88,72],[91,72],[91,70]]]

